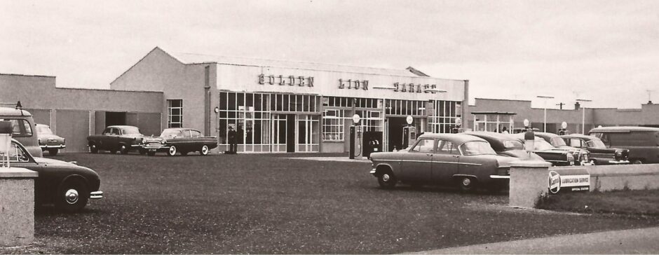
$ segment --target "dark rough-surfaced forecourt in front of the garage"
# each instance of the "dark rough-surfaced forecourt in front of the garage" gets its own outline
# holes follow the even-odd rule
[[[304,155],[62,153],[53,158],[100,174],[106,198],[79,214],[40,208],[36,243],[0,253],[389,254],[659,226],[658,216],[513,209],[505,193],[383,190],[369,163],[288,156]]]

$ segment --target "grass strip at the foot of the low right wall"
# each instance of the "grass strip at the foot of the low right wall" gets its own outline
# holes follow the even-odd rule
[[[564,193],[546,198],[540,207],[566,212],[659,216],[659,190]]]

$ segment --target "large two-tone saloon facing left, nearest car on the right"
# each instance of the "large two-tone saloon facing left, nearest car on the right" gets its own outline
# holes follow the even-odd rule
[[[371,154],[371,174],[383,188],[398,181],[412,185],[477,187],[493,191],[508,186],[510,163],[479,137],[463,134],[423,134],[407,150]]]

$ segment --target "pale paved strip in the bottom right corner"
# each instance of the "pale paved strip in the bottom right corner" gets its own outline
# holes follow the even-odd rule
[[[559,235],[410,254],[659,254],[659,228]]]

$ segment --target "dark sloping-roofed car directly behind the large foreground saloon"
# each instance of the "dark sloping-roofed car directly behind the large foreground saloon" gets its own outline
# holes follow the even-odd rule
[[[544,161],[544,159],[541,156],[538,156],[538,154],[524,151],[524,144],[515,136],[484,131],[465,132],[464,134],[484,139],[489,143],[492,149],[494,149],[497,155],[524,160]]]

